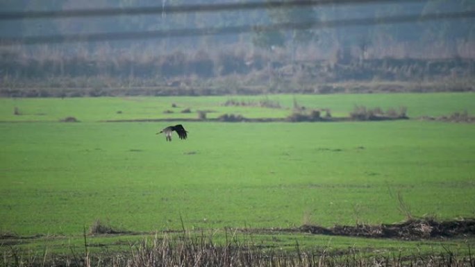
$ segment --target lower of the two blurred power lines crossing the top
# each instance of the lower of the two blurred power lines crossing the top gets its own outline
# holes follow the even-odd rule
[[[392,17],[338,19],[332,21],[312,21],[302,23],[281,23],[268,25],[244,25],[230,27],[182,28],[158,31],[121,32],[121,33],[84,33],[76,35],[41,35],[30,37],[0,37],[1,45],[13,44],[53,44],[72,42],[103,42],[137,39],[163,39],[169,37],[194,37],[201,35],[227,35],[251,32],[269,32],[278,30],[307,30],[310,28],[335,28],[340,26],[374,26],[399,24],[417,21],[435,21],[441,19],[463,19],[475,17],[475,10],[464,12],[444,12],[427,15],[398,15]]]

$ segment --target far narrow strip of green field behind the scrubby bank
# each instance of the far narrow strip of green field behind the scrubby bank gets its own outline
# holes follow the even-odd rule
[[[126,98],[0,98],[0,121],[58,121],[76,117],[79,121],[120,119],[197,118],[197,110],[210,110],[208,118],[224,113],[241,114],[247,118],[287,117],[294,99],[308,108],[329,108],[335,117],[347,117],[355,105],[367,107],[408,108],[408,116],[442,116],[467,110],[475,114],[475,94],[328,94],[328,95],[269,95],[269,96],[167,96]],[[281,109],[224,106],[228,100],[257,103],[273,101]],[[175,103],[178,107],[172,107]],[[17,107],[21,115],[15,115]],[[181,113],[190,108],[192,113]],[[165,114],[165,110],[174,113]]]

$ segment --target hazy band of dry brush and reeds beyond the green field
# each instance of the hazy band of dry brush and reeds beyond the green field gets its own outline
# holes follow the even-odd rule
[[[336,53],[336,52],[335,52]],[[269,93],[474,91],[472,58],[291,60],[286,53],[174,51],[165,54],[0,51],[0,96],[163,96]],[[230,105],[241,103],[240,101]],[[256,103],[271,107],[274,103]]]

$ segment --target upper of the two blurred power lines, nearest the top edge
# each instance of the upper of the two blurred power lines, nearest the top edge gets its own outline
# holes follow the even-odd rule
[[[16,19],[51,19],[51,18],[69,18],[69,17],[106,17],[117,15],[153,15],[185,13],[185,12],[217,12],[217,11],[235,11],[235,10],[254,10],[254,9],[275,9],[275,8],[293,8],[308,6],[326,6],[342,4],[363,4],[363,3],[401,3],[401,2],[419,2],[424,0],[319,0],[319,1],[269,1],[269,2],[249,2],[249,3],[213,3],[213,4],[194,4],[181,6],[148,6],[136,8],[96,8],[96,9],[78,9],[78,10],[49,10],[49,11],[24,11],[0,12],[0,20]]]

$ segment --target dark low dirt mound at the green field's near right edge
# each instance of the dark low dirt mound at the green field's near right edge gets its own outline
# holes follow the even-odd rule
[[[437,222],[433,219],[413,219],[403,223],[383,225],[335,225],[331,228],[303,225],[300,232],[336,236],[361,236],[388,239],[431,239],[475,236],[475,218]]]

